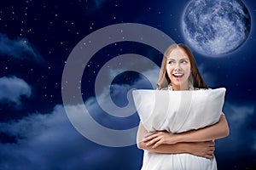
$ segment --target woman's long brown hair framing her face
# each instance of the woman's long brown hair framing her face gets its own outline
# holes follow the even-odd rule
[[[166,88],[168,84],[172,83],[171,79],[167,75],[166,71],[166,64],[167,64],[167,58],[172,53],[172,50],[175,48],[183,48],[183,50],[188,54],[189,56],[189,62],[190,62],[190,72],[191,75],[189,76],[189,81],[192,81],[194,88],[208,88],[207,83],[203,80],[201,77],[200,72],[198,71],[194,55],[192,54],[192,51],[190,48],[182,43],[179,44],[172,44],[169,48],[166,49],[166,52],[164,54],[161,68],[160,68],[160,76],[159,80],[157,82],[157,89]]]

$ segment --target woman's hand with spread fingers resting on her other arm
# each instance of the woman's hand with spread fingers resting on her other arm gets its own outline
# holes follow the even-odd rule
[[[156,131],[146,133],[143,142],[152,148],[158,147],[160,144],[176,144],[178,143],[177,134],[167,133],[166,131]]]

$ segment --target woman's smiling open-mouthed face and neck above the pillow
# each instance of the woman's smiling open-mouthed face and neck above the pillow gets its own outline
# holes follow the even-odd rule
[[[175,48],[167,56],[166,71],[174,90],[189,89],[190,67],[189,56],[183,48]]]

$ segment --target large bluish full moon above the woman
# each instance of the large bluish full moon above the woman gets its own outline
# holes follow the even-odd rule
[[[200,54],[235,51],[246,41],[251,17],[241,0],[191,0],[183,11],[183,36]]]

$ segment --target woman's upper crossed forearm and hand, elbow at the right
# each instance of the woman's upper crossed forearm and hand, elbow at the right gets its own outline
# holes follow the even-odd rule
[[[203,142],[213,139],[224,138],[229,135],[229,126],[224,115],[221,115],[219,121],[212,126],[192,130],[185,133],[166,133],[154,132],[147,133],[144,142],[153,145],[154,148],[160,144],[176,144],[180,142]]]

